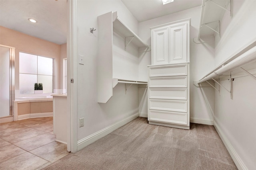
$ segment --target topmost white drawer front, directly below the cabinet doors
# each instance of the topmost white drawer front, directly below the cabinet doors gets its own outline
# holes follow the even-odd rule
[[[188,69],[187,64],[153,67],[149,69],[149,76],[186,76]]]

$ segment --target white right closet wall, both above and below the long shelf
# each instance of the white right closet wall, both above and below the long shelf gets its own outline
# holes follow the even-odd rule
[[[224,15],[222,37],[216,37],[215,65],[256,40],[256,1],[233,0],[233,18]],[[229,87],[228,80],[222,81]],[[215,93],[214,123],[229,141],[244,168],[256,169],[256,81],[249,77],[235,78],[233,100],[223,89]],[[236,162],[236,161],[235,161]],[[238,168],[241,166],[238,165]]]

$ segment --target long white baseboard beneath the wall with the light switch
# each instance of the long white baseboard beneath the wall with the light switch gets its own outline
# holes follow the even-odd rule
[[[109,133],[111,133],[112,131],[118,129],[119,127],[122,127],[123,125],[129,123],[130,121],[136,119],[137,117],[139,117],[139,113],[135,113],[134,115],[131,115],[129,117],[127,117],[126,119],[123,119],[121,121],[118,121],[117,123],[114,123],[113,125],[110,125],[88,137],[85,137],[84,139],[81,139],[77,142],[77,149],[81,150],[84,147],[90,145],[91,143],[94,143],[95,141],[97,141],[98,139],[108,135]]]

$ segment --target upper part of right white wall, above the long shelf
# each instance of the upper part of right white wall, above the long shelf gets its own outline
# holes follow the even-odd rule
[[[215,66],[256,40],[254,0],[232,0],[233,17],[226,12],[221,21],[220,35],[215,38]]]

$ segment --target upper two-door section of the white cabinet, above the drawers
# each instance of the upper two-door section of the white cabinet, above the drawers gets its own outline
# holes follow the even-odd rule
[[[189,62],[190,19],[151,27],[152,65]]]

